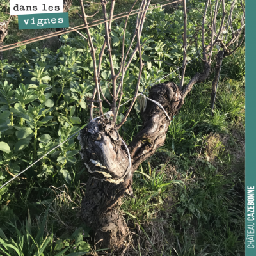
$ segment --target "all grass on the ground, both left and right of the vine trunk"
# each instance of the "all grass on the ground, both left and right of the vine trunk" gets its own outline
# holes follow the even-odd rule
[[[116,13],[127,10],[131,1],[120,3]],[[70,26],[81,24],[75,12],[70,13]],[[11,29],[14,32],[5,44],[48,33],[47,29],[18,31],[17,22]],[[31,44],[28,50],[46,44],[51,42]],[[123,255],[244,255],[243,61],[244,48],[223,61],[214,116],[211,77],[194,86],[172,120],[165,145],[134,173],[134,198],[124,197],[120,208],[130,230]],[[188,74],[195,74],[198,67],[196,62],[188,66]],[[142,126],[136,111],[132,110],[131,118],[120,129],[127,143]],[[68,170],[73,177],[69,186],[54,175],[38,179],[38,173],[28,170],[4,196],[0,194],[0,239],[15,246],[20,255],[38,255],[40,250],[45,256],[67,255],[63,252],[67,248],[69,253],[76,246],[83,251],[86,244],[91,255],[116,255],[97,252],[92,232],[81,223],[80,205],[88,179],[83,163],[77,161]],[[91,236],[76,234],[79,228]],[[78,244],[77,237],[84,244]],[[15,249],[4,250],[17,255]]]

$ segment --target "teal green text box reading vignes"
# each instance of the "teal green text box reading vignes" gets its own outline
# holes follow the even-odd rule
[[[18,15],[19,30],[69,27],[68,12]]]

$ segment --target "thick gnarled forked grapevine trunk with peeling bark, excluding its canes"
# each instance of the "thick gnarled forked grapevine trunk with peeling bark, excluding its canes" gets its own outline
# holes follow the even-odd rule
[[[153,86],[150,99],[159,102],[172,120],[183,104],[182,93],[174,83]],[[163,109],[147,101],[142,113],[143,128],[129,145],[132,166],[116,125],[106,118],[92,120],[80,135],[81,156],[92,177],[86,184],[81,210],[84,222],[92,227],[103,248],[120,248],[127,225],[119,212],[122,196],[132,195],[132,173],[164,145],[170,121]]]

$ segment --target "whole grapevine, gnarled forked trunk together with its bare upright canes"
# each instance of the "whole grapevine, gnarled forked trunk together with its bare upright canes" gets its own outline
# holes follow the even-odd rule
[[[142,51],[141,51],[141,33],[143,30],[143,24],[145,23],[145,17],[147,10],[150,6],[150,0],[142,0],[140,5],[140,12],[137,13],[135,33],[132,37],[131,44],[127,48],[127,53],[125,54],[125,29],[129,19],[129,15],[132,15],[132,9],[134,8],[136,1],[127,15],[124,26],[124,36],[123,36],[123,46],[122,46],[122,57],[120,60],[120,69],[116,73],[115,67],[113,65],[112,58],[112,45],[111,45],[111,24],[113,22],[113,13],[115,7],[115,0],[111,1],[109,16],[106,9],[107,1],[101,0],[100,3],[102,6],[102,13],[104,16],[104,26],[105,26],[105,40],[102,45],[99,61],[96,58],[95,45],[93,45],[92,35],[88,26],[88,18],[93,17],[97,12],[92,16],[86,15],[84,12],[84,3],[83,0],[80,0],[81,11],[84,25],[86,26],[86,33],[88,45],[90,47],[90,52],[93,60],[93,73],[95,88],[93,90],[92,99],[90,100],[90,120],[93,119],[93,108],[95,108],[94,102],[97,102],[99,113],[102,115],[102,98],[104,98],[106,104],[109,104],[112,111],[115,113],[113,120],[116,120],[118,115],[119,107],[122,103],[123,95],[123,82],[124,75],[129,67],[132,59],[135,54],[139,54],[140,63],[139,63],[139,74],[136,89],[134,90],[134,98],[125,113],[124,119],[116,126],[115,122],[107,120],[106,118],[96,118],[92,120],[86,128],[81,131],[79,135],[79,141],[81,143],[81,156],[83,158],[84,164],[88,169],[88,172],[91,173],[91,177],[86,185],[86,196],[83,198],[82,202],[82,216],[83,220],[92,227],[96,233],[97,240],[103,240],[102,246],[104,248],[120,248],[124,244],[125,237],[127,236],[127,226],[125,224],[122,215],[119,213],[118,208],[121,204],[121,199],[124,193],[132,196],[132,174],[138,166],[145,161],[148,157],[152,156],[156,152],[157,148],[164,145],[166,138],[166,132],[168,131],[168,126],[170,125],[170,120],[172,120],[174,115],[177,115],[177,111],[182,107],[184,98],[191,91],[195,83],[204,82],[205,79],[209,76],[211,71],[211,62],[212,62],[212,52],[214,47],[217,44],[222,44],[223,49],[234,44],[236,40],[239,39],[241,35],[241,29],[244,26],[244,15],[241,17],[241,28],[235,33],[232,31],[232,40],[228,44],[224,45],[224,41],[220,39],[221,33],[223,32],[225,26],[225,17],[227,12],[225,11],[225,0],[221,0],[221,4],[216,1],[214,6],[214,15],[211,16],[211,26],[205,26],[207,14],[212,13],[211,1],[205,3],[205,10],[202,19],[202,36],[199,36],[202,40],[202,54],[199,54],[200,59],[202,60],[203,67],[202,72],[198,72],[193,76],[189,83],[184,85],[185,69],[188,64],[186,58],[186,1],[183,0],[184,10],[184,35],[183,35],[183,66],[182,66],[182,79],[180,81],[180,87],[174,83],[162,83],[153,86],[150,89],[149,98],[159,102],[163,109],[157,106],[156,103],[147,101],[147,108],[145,112],[142,113],[143,118],[143,128],[135,136],[132,142],[129,145],[129,149],[126,147],[124,141],[120,138],[118,134],[118,127],[121,127],[124,124],[125,120],[129,116],[129,113],[134,106],[135,100],[138,97],[138,91],[140,88],[141,74],[143,70],[143,61],[142,61]],[[232,12],[234,9],[235,0],[232,0],[232,8],[230,9],[230,14],[228,20],[232,22]],[[244,12],[243,3],[241,4]],[[218,11],[221,10],[222,6],[222,15],[220,22],[216,23],[216,17]],[[228,21],[228,22],[229,22]],[[229,24],[229,23],[228,23]],[[218,28],[216,28],[218,25]],[[220,25],[220,26],[219,26]],[[208,28],[209,29],[208,29]],[[207,31],[205,31],[207,29]],[[232,28],[233,30],[233,28]],[[228,29],[227,29],[228,31]],[[206,36],[207,34],[207,36]],[[211,36],[211,42],[209,40]],[[132,53],[129,54],[132,49],[132,44],[137,40],[137,43]],[[227,39],[227,38],[226,38]],[[196,44],[198,37],[195,36]],[[146,41],[143,42],[143,44]],[[243,40],[241,41],[243,42]],[[240,43],[241,45],[241,43]],[[102,93],[100,81],[100,70],[102,69],[102,56],[105,51],[105,48],[108,47],[108,56],[109,63],[111,68],[111,80],[113,88],[113,99],[112,102],[109,102]],[[232,51],[236,51],[237,47]],[[232,54],[232,52],[228,54]],[[129,55],[129,58],[127,58]],[[197,57],[196,57],[197,58]],[[97,62],[99,65],[97,65]],[[217,60],[218,62],[218,60]],[[119,78],[119,84],[116,84],[116,81]],[[215,83],[215,82],[214,82]],[[214,86],[214,84],[213,84]],[[117,99],[119,98],[119,103]],[[97,100],[96,100],[97,99]],[[116,108],[117,107],[117,108]],[[117,109],[117,110],[116,110]],[[170,120],[169,120],[170,117]],[[129,150],[129,151],[128,151]],[[131,159],[129,159],[129,154]]]

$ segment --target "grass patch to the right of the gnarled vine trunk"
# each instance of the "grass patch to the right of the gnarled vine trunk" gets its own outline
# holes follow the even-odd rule
[[[212,118],[209,108],[192,106],[201,93],[207,95],[209,105],[209,88],[205,83],[193,90],[170,125],[164,149],[134,174],[135,199],[122,205],[136,230],[134,243],[138,244],[130,255],[244,255],[244,144],[232,143],[237,133],[244,140],[243,108],[239,117],[218,108]],[[228,90],[228,83],[223,83],[219,104]],[[234,90],[234,97],[244,100],[241,87]],[[182,123],[185,116],[191,121]],[[243,150],[240,156],[238,148]]]

